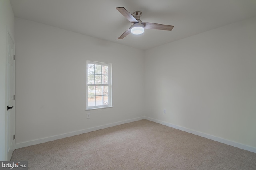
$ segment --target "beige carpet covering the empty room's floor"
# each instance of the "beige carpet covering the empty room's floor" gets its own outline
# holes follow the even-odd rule
[[[256,170],[256,153],[148,120],[14,150],[29,170]]]

